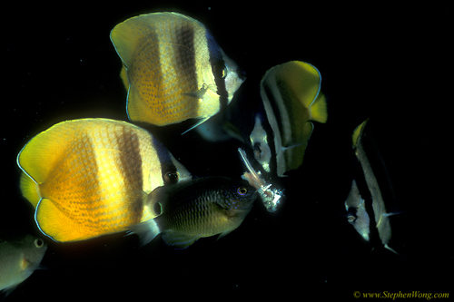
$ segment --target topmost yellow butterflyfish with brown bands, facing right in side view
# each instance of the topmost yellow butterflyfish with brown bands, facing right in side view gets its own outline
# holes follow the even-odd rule
[[[133,122],[164,126],[195,119],[194,128],[229,104],[244,81],[210,31],[186,15],[134,16],[114,26],[111,40],[123,61]]]

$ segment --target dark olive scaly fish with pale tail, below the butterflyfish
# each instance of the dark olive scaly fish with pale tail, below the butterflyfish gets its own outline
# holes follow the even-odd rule
[[[144,244],[162,234],[173,248],[237,229],[252,209],[256,190],[246,181],[206,177],[161,187],[148,196],[158,215],[131,228]]]

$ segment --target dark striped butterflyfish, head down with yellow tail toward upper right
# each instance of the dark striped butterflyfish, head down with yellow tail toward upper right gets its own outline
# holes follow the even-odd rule
[[[263,170],[284,177],[301,166],[313,130],[311,121],[324,123],[328,118],[320,89],[321,74],[309,63],[283,63],[265,73],[260,93],[266,118],[265,114],[255,115],[250,136],[254,157]],[[272,134],[266,132],[266,121]],[[275,169],[271,168],[273,158]]]

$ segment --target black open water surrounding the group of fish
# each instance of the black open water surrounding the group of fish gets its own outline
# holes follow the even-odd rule
[[[47,269],[36,271],[6,301],[161,293],[301,299],[351,298],[355,291],[453,294],[447,193],[452,169],[445,147],[452,12],[210,2],[110,6],[17,4],[5,10],[2,231],[39,235],[32,206],[18,188],[15,157],[27,141],[65,120],[127,121],[121,62],[109,33],[133,15],[173,10],[205,24],[247,73],[242,102],[258,97],[258,83],[272,66],[291,60],[315,65],[328,97],[328,123],[315,124],[303,166],[282,180],[287,198],[276,212],[257,202],[232,234],[200,239],[184,250],[167,248],[159,238],[139,248],[135,236],[123,233],[67,244],[46,239]],[[368,117],[395,190],[391,206],[402,212],[390,218],[390,246],[401,256],[371,251],[342,216],[352,175],[350,135]],[[195,132],[160,135],[195,175],[242,173],[236,141],[210,144]]]

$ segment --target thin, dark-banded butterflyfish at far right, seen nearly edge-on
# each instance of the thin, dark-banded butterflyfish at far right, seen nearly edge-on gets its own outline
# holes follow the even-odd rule
[[[360,163],[360,173],[357,173],[355,180],[351,183],[350,194],[345,201],[345,209],[349,212],[348,219],[353,227],[360,233],[363,239],[371,240],[372,234],[378,234],[378,241],[385,248],[397,254],[397,252],[390,248],[388,243],[391,238],[391,225],[390,216],[395,213],[390,213],[386,209],[385,199],[383,197],[382,188],[380,187],[377,173],[372,169],[370,163],[370,152],[374,151],[376,157],[379,157],[380,168],[386,175],[386,183],[388,190],[392,191],[388,172],[384,163],[381,160],[380,152],[377,150],[373,141],[373,135],[368,126],[368,120],[360,123],[352,134],[352,145],[355,156]],[[367,133],[367,134],[366,134]],[[366,148],[366,145],[373,146],[373,148]],[[369,155],[368,155],[369,154]],[[375,166],[379,167],[378,164]],[[363,183],[362,186],[358,183]],[[382,184],[385,182],[381,182]],[[363,188],[363,191],[359,188]],[[392,196],[393,194],[389,194]]]

